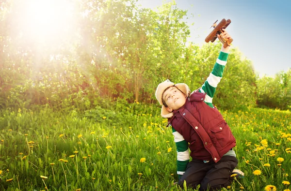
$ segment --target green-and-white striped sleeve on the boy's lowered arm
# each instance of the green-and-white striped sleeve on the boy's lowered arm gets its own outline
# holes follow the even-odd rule
[[[183,136],[177,132],[173,127],[174,141],[177,147],[177,174],[182,176],[186,170],[187,164],[189,163],[189,151],[188,142],[184,140]]]

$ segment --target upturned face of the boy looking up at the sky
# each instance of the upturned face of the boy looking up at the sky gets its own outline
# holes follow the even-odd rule
[[[168,112],[178,110],[186,102],[186,95],[182,93],[178,88],[168,88],[162,95],[162,99],[168,105]]]

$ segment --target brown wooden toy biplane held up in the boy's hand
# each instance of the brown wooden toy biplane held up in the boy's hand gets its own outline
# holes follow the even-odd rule
[[[218,25],[216,25],[216,22],[218,20],[215,21],[215,23],[212,24],[212,26],[210,27],[210,29],[213,27],[214,29],[210,32],[210,34],[206,37],[205,42],[208,43],[209,41],[211,41],[211,43],[213,43],[216,38],[217,38],[217,34],[221,34],[223,32],[222,29],[226,29],[226,27],[231,23],[230,19],[222,19]],[[233,39],[224,39],[222,38],[224,44],[223,47],[226,48],[227,46],[230,46],[230,44],[232,43]]]

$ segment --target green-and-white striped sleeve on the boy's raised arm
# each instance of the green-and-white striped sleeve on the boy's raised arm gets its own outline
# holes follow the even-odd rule
[[[214,64],[212,72],[209,74],[208,78],[202,85],[202,88],[199,90],[202,93],[206,93],[204,102],[210,107],[214,107],[212,104],[212,99],[215,93],[215,89],[222,78],[227,58],[228,53],[219,53],[218,59],[216,59],[216,63]]]

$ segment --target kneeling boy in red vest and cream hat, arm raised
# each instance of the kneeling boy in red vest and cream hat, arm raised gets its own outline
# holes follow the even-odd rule
[[[223,29],[224,30],[224,29]],[[218,39],[231,38],[224,30]],[[202,88],[193,91],[186,84],[174,84],[166,80],[156,89],[156,98],[162,105],[162,117],[168,118],[177,146],[178,184],[194,189],[210,191],[231,184],[232,174],[243,176],[234,170],[238,164],[233,147],[236,140],[226,121],[212,104],[217,84],[222,78],[229,46],[222,46],[214,68]],[[188,144],[189,143],[189,144]],[[191,150],[192,161],[189,162]]]

